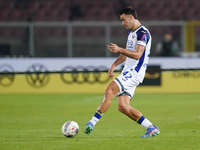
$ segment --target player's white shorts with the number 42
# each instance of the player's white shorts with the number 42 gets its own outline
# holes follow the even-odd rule
[[[135,88],[140,84],[140,82],[136,80],[135,70],[132,69],[121,72],[121,74],[114,81],[119,87],[119,93],[117,94],[117,97],[127,95],[132,98]]]

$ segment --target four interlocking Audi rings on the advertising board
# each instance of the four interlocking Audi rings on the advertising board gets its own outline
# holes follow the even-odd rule
[[[108,71],[108,68],[105,66],[66,66],[61,71],[61,79],[66,84],[83,84],[83,83],[106,83],[110,80],[108,76],[102,76],[102,71]],[[66,72],[71,72],[70,74],[66,74]]]

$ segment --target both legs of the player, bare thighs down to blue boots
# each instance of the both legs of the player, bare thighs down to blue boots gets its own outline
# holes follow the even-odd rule
[[[118,85],[112,81],[107,87],[104,95],[103,102],[99,105],[95,115],[88,122],[85,128],[85,133],[90,134],[93,131],[94,125],[99,121],[102,115],[108,110],[112,99],[115,95],[119,93]],[[160,133],[159,129],[154,126],[147,118],[145,118],[137,109],[130,106],[130,97],[126,95],[119,96],[118,100],[118,110],[123,114],[127,115],[132,120],[136,121],[138,124],[147,128],[147,132],[142,138],[152,137]]]

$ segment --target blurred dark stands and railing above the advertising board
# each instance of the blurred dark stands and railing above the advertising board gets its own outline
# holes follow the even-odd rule
[[[166,33],[177,41],[178,56],[200,56],[199,0],[0,0],[0,55],[116,57],[106,45],[125,46],[118,12],[127,5],[152,33],[151,56]]]

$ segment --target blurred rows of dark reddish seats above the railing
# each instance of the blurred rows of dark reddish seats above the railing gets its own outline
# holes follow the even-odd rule
[[[35,21],[68,21],[74,3],[78,3],[82,11],[74,21],[118,21],[117,13],[126,5],[137,10],[140,20],[200,19],[199,0],[31,0],[23,9],[15,7],[14,0],[0,0],[0,21],[26,21],[31,15]]]

